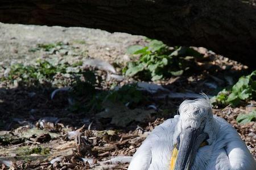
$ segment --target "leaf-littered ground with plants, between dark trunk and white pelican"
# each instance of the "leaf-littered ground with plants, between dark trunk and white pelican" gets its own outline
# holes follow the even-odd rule
[[[127,169],[154,126],[200,92],[256,158],[255,75],[236,83],[251,73],[236,61],[97,29],[0,32],[2,169]]]

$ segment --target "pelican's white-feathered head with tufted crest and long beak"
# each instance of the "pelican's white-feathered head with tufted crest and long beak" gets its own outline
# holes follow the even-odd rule
[[[171,170],[192,169],[197,150],[212,145],[218,130],[208,97],[183,101],[179,114],[173,138]]]

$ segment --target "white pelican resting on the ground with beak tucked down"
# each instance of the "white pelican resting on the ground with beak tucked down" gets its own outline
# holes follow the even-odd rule
[[[213,116],[208,97],[185,100],[179,115],[156,126],[135,152],[129,170],[255,170],[236,129]]]

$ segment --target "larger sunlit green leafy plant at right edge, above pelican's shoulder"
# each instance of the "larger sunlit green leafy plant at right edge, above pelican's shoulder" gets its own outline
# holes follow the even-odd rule
[[[230,91],[223,90],[214,97],[214,102],[221,104],[231,104],[236,106],[242,100],[251,100],[256,95],[256,71],[250,75],[241,76]],[[214,103],[213,102],[213,103]]]

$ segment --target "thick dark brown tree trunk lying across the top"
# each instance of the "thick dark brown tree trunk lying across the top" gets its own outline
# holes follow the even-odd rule
[[[100,28],[204,46],[255,68],[254,0],[2,0],[0,21]]]

